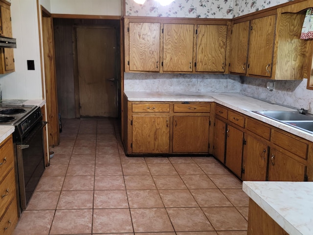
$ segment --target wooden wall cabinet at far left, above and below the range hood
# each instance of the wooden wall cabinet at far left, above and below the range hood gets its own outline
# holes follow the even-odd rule
[[[12,24],[11,24],[11,3],[4,3],[0,1],[0,34],[4,37],[12,37]],[[0,48],[0,74],[13,72],[14,53],[13,48]]]

